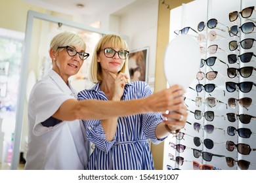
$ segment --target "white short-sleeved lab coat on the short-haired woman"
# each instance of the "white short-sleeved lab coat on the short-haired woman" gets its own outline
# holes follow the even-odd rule
[[[49,119],[67,99],[77,93],[53,70],[35,84],[28,102],[28,153],[25,169],[85,169],[89,158],[89,142],[80,120],[60,122],[45,127]]]

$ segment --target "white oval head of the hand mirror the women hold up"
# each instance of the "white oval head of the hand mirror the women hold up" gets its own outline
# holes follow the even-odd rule
[[[169,86],[188,88],[200,68],[200,45],[189,35],[175,37],[165,50],[163,68]]]

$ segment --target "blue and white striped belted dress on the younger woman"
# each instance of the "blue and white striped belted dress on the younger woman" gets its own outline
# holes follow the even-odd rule
[[[131,82],[125,85],[123,101],[140,99],[151,95],[146,82]],[[91,90],[78,93],[78,100],[108,98],[100,91],[100,84]],[[148,140],[158,144],[156,127],[163,120],[160,113],[137,114],[119,117],[113,141],[106,141],[101,120],[84,120],[87,138],[95,144],[87,169],[96,170],[148,170],[155,169]]]

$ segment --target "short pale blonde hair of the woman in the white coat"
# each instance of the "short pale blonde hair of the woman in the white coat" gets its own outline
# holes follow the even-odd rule
[[[50,49],[57,52],[59,46],[79,46],[85,50],[85,41],[79,35],[70,32],[63,32],[55,35],[51,40]],[[59,49],[62,50],[63,48]]]

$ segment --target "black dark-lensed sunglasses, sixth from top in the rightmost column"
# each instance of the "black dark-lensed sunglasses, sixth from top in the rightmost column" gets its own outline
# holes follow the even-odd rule
[[[241,92],[248,93],[248,92],[251,92],[253,85],[256,86],[256,84],[254,82],[249,82],[249,81],[240,82],[240,83],[226,82],[226,90],[228,92],[234,92],[234,91],[236,91],[236,86],[238,86],[238,88]]]

